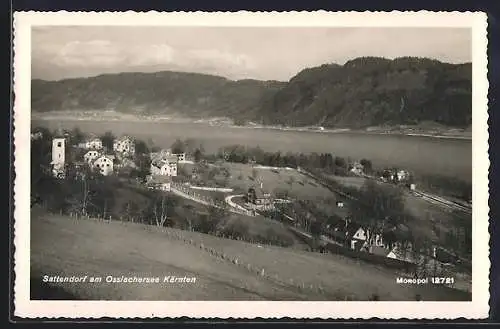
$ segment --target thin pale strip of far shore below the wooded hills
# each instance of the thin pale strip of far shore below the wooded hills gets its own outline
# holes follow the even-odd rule
[[[398,127],[376,127],[371,129],[351,129],[351,128],[326,128],[326,127],[283,127],[274,125],[260,125],[255,123],[245,125],[235,125],[231,119],[228,118],[185,118],[178,116],[149,116],[141,117],[121,113],[104,113],[104,115],[96,115],[94,113],[87,115],[75,115],[74,113],[67,112],[49,112],[49,113],[32,113],[32,120],[41,121],[122,121],[122,122],[150,122],[150,123],[178,123],[178,124],[205,124],[213,127],[227,127],[237,129],[273,129],[281,131],[300,131],[300,132],[313,132],[313,133],[351,133],[351,134],[372,134],[372,135],[394,135],[394,136],[415,136],[415,137],[430,137],[430,138],[444,138],[444,139],[460,139],[472,140],[471,132],[456,131],[447,132],[440,129],[425,130],[418,128],[398,128]],[[449,129],[452,130],[452,129]]]

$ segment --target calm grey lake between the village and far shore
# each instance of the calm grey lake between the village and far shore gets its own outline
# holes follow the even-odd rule
[[[33,120],[32,126],[50,129],[79,127],[82,131],[128,134],[169,147],[177,138],[199,140],[207,152],[221,146],[260,146],[266,151],[329,152],[353,159],[366,158],[375,167],[397,166],[419,174],[440,174],[472,181],[472,141],[404,135],[318,133],[242,127],[214,127],[202,123]]]

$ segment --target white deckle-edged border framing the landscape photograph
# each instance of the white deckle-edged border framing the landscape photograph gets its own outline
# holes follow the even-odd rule
[[[57,25],[465,27],[473,33],[471,302],[34,301],[30,277],[31,27]],[[480,12],[14,13],[15,312],[25,318],[485,318],[489,311],[487,17]]]

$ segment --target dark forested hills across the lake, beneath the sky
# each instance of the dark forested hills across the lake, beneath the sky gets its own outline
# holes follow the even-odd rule
[[[299,72],[289,82],[180,72],[120,73],[32,81],[32,110],[114,110],[228,117],[289,126],[362,128],[472,120],[471,64],[362,57]]]

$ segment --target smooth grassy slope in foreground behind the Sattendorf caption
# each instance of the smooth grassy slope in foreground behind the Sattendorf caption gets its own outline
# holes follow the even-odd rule
[[[236,261],[235,261],[236,260]],[[195,277],[195,283],[59,283],[42,275]],[[458,290],[402,286],[396,273],[338,255],[259,246],[195,232],[41,214],[31,219],[32,299],[470,300]],[[50,292],[52,296],[40,296]],[[38,295],[37,295],[38,294]]]

